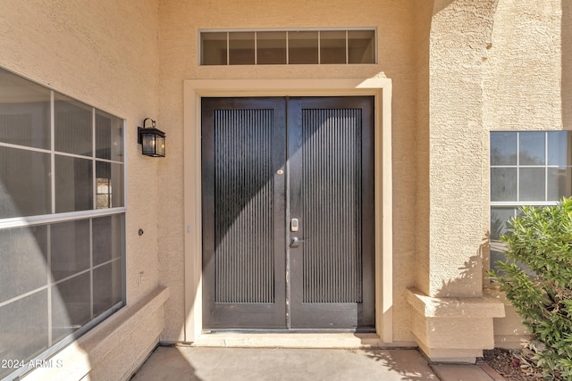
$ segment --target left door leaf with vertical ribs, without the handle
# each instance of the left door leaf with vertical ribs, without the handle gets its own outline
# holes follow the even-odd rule
[[[203,99],[202,123],[204,326],[285,327],[285,100]]]

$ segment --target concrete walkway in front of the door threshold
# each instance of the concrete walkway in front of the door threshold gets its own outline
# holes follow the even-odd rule
[[[415,349],[206,347],[158,347],[132,378],[133,381],[498,379],[477,365],[430,365]]]

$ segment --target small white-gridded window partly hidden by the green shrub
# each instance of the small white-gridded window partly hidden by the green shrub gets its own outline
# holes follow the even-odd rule
[[[491,265],[504,260],[499,236],[523,205],[572,196],[572,132],[491,132]]]

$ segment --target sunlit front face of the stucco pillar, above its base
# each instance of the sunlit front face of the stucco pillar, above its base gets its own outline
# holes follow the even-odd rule
[[[442,3],[442,2],[441,2]],[[417,286],[431,296],[482,295],[488,226],[484,162],[483,78],[496,1],[457,0],[433,15],[429,54],[428,235],[416,254],[430,277]],[[441,7],[440,7],[441,8]],[[420,165],[419,170],[424,170]],[[427,252],[422,252],[424,246]],[[420,272],[425,273],[426,269]],[[427,283],[422,281],[426,280]]]

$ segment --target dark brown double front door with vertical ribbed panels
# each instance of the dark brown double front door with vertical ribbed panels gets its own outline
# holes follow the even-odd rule
[[[202,98],[203,327],[374,327],[372,97]]]

